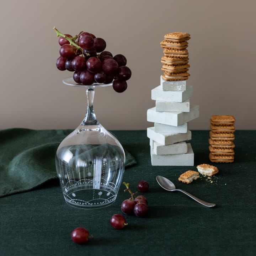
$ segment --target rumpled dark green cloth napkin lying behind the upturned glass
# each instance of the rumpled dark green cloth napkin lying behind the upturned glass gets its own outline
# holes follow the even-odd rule
[[[57,178],[55,153],[72,130],[0,130],[0,197],[25,192]],[[126,150],[126,167],[136,163]]]

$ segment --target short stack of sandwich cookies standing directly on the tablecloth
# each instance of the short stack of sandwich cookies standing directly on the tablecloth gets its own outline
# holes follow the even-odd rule
[[[214,115],[210,118],[209,159],[211,162],[234,162],[234,123],[235,118],[230,115]]]

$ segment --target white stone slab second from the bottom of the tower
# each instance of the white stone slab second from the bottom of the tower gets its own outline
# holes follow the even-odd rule
[[[161,145],[154,140],[150,142],[151,148],[153,148],[154,154],[156,155],[174,155],[174,154],[186,154],[187,153],[187,143],[178,142],[171,145]]]

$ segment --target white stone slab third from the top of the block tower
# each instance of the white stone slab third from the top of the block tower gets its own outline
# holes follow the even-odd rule
[[[190,99],[183,102],[156,101],[157,112],[190,112]]]

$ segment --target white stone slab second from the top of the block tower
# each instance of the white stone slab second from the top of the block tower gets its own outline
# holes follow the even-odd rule
[[[163,91],[162,86],[159,85],[151,90],[151,99],[159,101],[183,102],[191,97],[192,94],[192,85],[188,86],[186,91]]]

